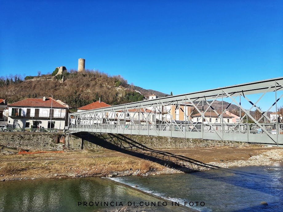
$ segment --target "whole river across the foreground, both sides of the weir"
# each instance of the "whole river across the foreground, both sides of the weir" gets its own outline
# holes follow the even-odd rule
[[[261,205],[261,201],[268,202],[268,205]],[[87,206],[83,206],[83,202]],[[91,202],[93,206],[90,206]],[[193,204],[189,207],[205,212],[283,211],[283,166],[233,167],[111,180],[36,179],[0,183],[0,211],[115,211],[122,208],[120,202],[123,206],[130,202],[130,208],[136,211],[189,210],[188,207],[175,206],[177,203]],[[134,202],[138,207],[134,208]],[[156,206],[140,206],[140,202],[143,205],[153,202]],[[161,205],[166,202],[167,206],[158,206],[158,202]]]

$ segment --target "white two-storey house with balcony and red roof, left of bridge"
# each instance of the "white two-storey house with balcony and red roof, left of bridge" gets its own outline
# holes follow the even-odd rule
[[[9,105],[8,124],[14,128],[57,128],[66,126],[68,106],[51,97],[25,99]]]

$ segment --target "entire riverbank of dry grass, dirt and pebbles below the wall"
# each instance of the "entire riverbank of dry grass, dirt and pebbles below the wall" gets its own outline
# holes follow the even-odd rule
[[[2,153],[0,180],[177,174],[282,161],[283,148],[259,146],[124,152],[100,149],[24,155]]]

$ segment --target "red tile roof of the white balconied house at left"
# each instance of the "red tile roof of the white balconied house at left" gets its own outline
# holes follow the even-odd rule
[[[9,107],[18,106],[18,107],[45,107],[45,108],[67,108],[66,106],[58,103],[56,100],[51,97],[46,97],[46,100],[43,99],[25,99],[22,101],[18,101],[9,105]]]

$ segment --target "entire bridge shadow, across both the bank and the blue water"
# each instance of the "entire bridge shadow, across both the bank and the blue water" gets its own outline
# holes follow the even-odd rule
[[[179,171],[183,171],[185,173],[192,173],[196,172],[195,169],[185,167],[185,165],[178,163],[177,161],[183,161],[186,163],[190,163],[192,165],[197,165],[200,167],[205,167],[209,169],[217,169],[221,168],[218,166],[214,166],[207,163],[202,163],[198,160],[191,159],[189,157],[185,157],[183,155],[176,155],[172,154],[166,151],[160,151],[155,150],[149,147],[146,147],[145,145],[138,143],[137,141],[128,138],[125,135],[120,134],[100,134],[99,137],[95,134],[91,134],[88,132],[80,132],[80,133],[74,133],[75,136],[82,138],[83,140],[89,141],[91,143],[94,143],[98,146],[101,146],[103,148],[118,151],[127,155],[131,155],[134,157],[138,157],[141,159],[147,159],[149,161],[159,163],[162,166],[168,166],[171,168],[175,168]],[[224,174],[226,173],[226,175]],[[228,177],[230,175],[231,177]],[[241,175],[236,180],[233,178],[233,175]],[[268,180],[269,176],[256,174],[256,173],[250,173],[248,171],[234,171],[226,168],[221,168],[221,174],[219,172],[201,172],[198,174],[198,177],[204,178],[204,179],[210,179],[210,180],[216,180],[221,181],[223,183],[228,183],[234,186],[241,186],[247,189],[253,189],[253,190],[259,190],[261,192],[268,193],[269,190],[263,190],[261,183],[253,182],[253,186],[251,186],[250,182],[245,182],[245,178],[257,178],[261,180]]]

